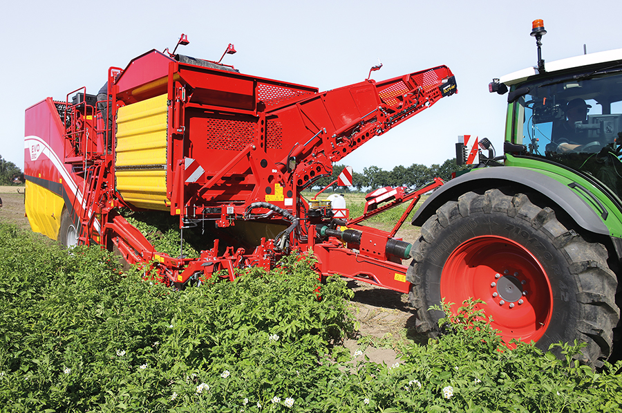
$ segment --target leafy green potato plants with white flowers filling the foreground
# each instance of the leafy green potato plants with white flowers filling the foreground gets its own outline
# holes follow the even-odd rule
[[[350,361],[345,282],[292,255],[173,291],[0,223],[1,412],[616,412],[622,380],[502,347],[465,302],[393,366]],[[321,300],[318,300],[318,294]],[[445,306],[445,309],[447,307]],[[360,358],[357,358],[359,360]],[[278,398],[278,399],[277,399]],[[274,403],[273,403],[274,401]],[[261,407],[258,407],[260,406]]]

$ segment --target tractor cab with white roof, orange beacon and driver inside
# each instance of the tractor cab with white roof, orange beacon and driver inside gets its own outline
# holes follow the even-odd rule
[[[509,90],[505,153],[563,165],[622,198],[622,49],[545,64],[536,22],[538,66],[489,86]]]

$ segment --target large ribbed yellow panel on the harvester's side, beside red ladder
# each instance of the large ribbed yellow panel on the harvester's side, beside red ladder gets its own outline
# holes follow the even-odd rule
[[[167,201],[167,95],[117,112],[117,190],[138,208],[169,210]]]

